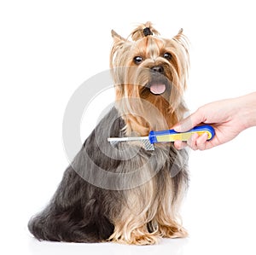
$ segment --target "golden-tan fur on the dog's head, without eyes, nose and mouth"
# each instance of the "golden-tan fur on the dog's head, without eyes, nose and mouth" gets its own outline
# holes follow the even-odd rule
[[[144,136],[148,134],[148,130],[171,128],[178,119],[183,118],[185,111],[182,95],[186,88],[189,67],[186,39],[182,35],[182,31],[172,39],[156,36],[143,37],[142,27],[147,25],[139,26],[131,33],[132,38],[136,39],[133,42],[125,40],[116,32],[113,32],[114,44],[110,55],[110,67],[113,70],[118,109],[123,115],[129,114],[125,117],[127,135],[134,131]],[[149,26],[152,27],[150,23]],[[173,61],[168,62],[162,57],[165,52],[172,53]],[[132,62],[133,57],[137,55],[143,56],[145,60],[139,67]],[[160,98],[156,99],[155,96],[148,96],[145,99],[163,115],[162,119],[166,123],[157,127],[155,119],[148,122],[149,119],[152,119],[150,111],[148,111],[149,115],[148,112],[142,110],[144,107],[139,105],[139,101],[134,101],[140,97],[143,86],[148,82],[148,68],[159,64],[170,70],[166,75],[172,81],[173,89],[172,93],[169,92],[168,94],[166,91],[165,95]],[[126,73],[125,77],[124,72]],[[134,114],[131,114],[131,112],[134,112]]]

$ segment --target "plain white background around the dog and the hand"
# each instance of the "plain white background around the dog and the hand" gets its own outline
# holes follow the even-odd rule
[[[86,79],[108,69],[110,30],[127,37],[148,20],[163,37],[183,27],[190,40],[185,98],[191,112],[255,91],[254,1],[0,2],[1,253],[256,253],[255,128],[218,148],[190,153],[182,213],[188,239],[143,247],[78,245],[38,242],[26,230],[68,165],[61,137],[67,101]],[[104,95],[84,113],[83,139],[113,100]]]

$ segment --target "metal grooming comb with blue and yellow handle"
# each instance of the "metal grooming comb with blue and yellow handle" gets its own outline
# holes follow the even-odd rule
[[[207,141],[210,141],[215,135],[215,131],[210,125],[196,126],[187,132],[177,132],[175,130],[160,130],[150,131],[148,136],[135,136],[135,137],[109,137],[108,142],[116,144],[118,142],[143,142],[143,147],[146,150],[154,150],[154,143],[158,142],[174,142],[174,141],[188,141],[190,136],[197,133],[199,136],[204,133],[208,134]]]

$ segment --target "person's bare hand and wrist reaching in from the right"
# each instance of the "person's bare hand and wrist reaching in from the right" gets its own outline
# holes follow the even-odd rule
[[[207,134],[199,136],[194,134],[188,142],[176,141],[174,146],[181,149],[189,145],[196,150],[205,150],[229,142],[235,138],[241,130],[256,125],[256,93],[241,96],[235,99],[214,101],[200,107],[188,118],[183,119],[173,127],[177,132],[192,129],[195,125],[212,125],[215,136],[207,141]]]

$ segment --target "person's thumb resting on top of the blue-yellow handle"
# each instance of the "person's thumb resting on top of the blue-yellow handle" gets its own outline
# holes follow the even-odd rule
[[[172,128],[177,132],[185,132],[191,130],[195,125],[199,125],[203,122],[203,117],[197,110],[195,113],[192,113],[189,117],[183,119]]]

